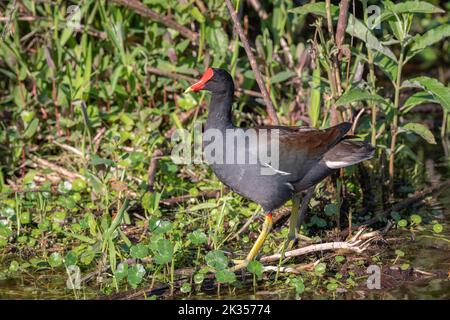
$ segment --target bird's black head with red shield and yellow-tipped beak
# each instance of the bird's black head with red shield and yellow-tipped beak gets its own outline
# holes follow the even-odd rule
[[[208,68],[201,79],[190,86],[186,92],[199,90],[208,90],[212,93],[233,93],[233,78],[224,69]]]

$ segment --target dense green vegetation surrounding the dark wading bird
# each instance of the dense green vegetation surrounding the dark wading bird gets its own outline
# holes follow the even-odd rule
[[[152,11],[126,5],[136,2]],[[350,241],[373,219],[370,228],[388,223],[407,240],[386,250],[374,240],[370,254],[285,259],[278,270],[278,259],[255,261],[245,280],[228,271],[251,247],[261,208],[228,192],[206,164],[170,157],[173,132],[206,119],[209,96],[183,91],[208,66],[233,74],[237,124],[269,123],[225,3],[10,1],[0,4],[11,19],[0,20],[0,283],[51,275],[58,280],[42,287],[54,282],[58,297],[76,299],[133,288],[148,299],[264,288],[336,298],[364,289],[371,264],[401,272],[441,263],[416,265],[405,242],[432,241],[448,257],[448,198],[444,208],[431,192],[425,209],[389,202],[450,175],[449,4],[355,0],[359,11],[350,2],[342,29],[329,1],[260,0],[258,10],[232,2],[280,124],[352,121],[357,138],[377,146],[372,161],[316,188],[298,247]],[[361,10],[372,4],[379,17]],[[263,255],[281,251],[285,213],[275,214]]]

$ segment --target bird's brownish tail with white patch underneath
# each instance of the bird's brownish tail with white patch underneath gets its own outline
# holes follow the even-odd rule
[[[364,141],[342,140],[329,150],[323,160],[330,169],[339,169],[372,158],[375,148]]]

